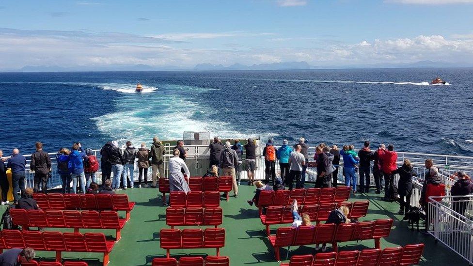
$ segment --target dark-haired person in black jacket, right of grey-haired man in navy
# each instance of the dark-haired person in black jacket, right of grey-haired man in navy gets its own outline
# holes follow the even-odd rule
[[[51,158],[43,152],[43,143],[36,142],[36,152],[31,155],[30,170],[34,171],[34,193],[38,193],[39,186],[43,193],[47,194],[47,180],[51,172]]]

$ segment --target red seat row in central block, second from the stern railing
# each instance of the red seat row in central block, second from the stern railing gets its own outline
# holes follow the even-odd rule
[[[218,208],[220,207],[219,191],[173,191],[169,196],[169,204],[175,208]]]

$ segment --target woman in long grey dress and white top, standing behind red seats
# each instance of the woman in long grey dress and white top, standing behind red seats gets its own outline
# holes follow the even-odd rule
[[[179,158],[178,149],[174,150],[173,155],[174,157],[169,159],[169,188],[171,191],[184,191],[187,194],[190,188],[186,179],[184,179],[181,169],[184,169],[186,175],[190,177],[189,168],[187,168],[184,160]]]

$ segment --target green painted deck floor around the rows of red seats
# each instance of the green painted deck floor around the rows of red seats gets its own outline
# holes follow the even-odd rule
[[[230,257],[230,263],[234,266],[262,264],[276,266],[279,263],[274,259],[273,249],[269,244],[268,237],[264,233],[264,225],[258,217],[256,207],[251,207],[246,202],[251,199],[255,187],[239,186],[239,197],[230,197],[230,201],[221,201],[223,209],[223,224],[226,239],[225,247],[221,249],[221,256]],[[170,228],[166,225],[165,207],[161,203],[161,194],[157,196],[156,188],[133,188],[121,190],[128,194],[131,201],[136,205],[131,213],[131,219],[122,230],[122,239],[115,243],[110,253],[110,266],[140,266],[151,265],[151,260],[156,257],[164,257],[165,250],[159,248],[159,230]],[[233,192],[231,192],[233,195]],[[425,243],[426,249],[419,265],[468,265],[456,253],[449,250],[441,243],[435,243],[433,237],[423,235],[417,231],[410,231],[407,221],[401,221],[402,216],[397,215],[399,205],[397,203],[386,203],[380,201],[377,194],[371,193],[368,196],[360,194],[352,195],[350,201],[368,199],[370,201],[368,215],[361,220],[374,219],[394,219],[391,235],[381,240],[382,248],[404,246],[406,244]],[[4,207],[1,208],[2,212]],[[275,234],[277,227],[271,226],[271,233]],[[197,228],[197,227],[176,227]],[[56,229],[47,229],[54,230]],[[72,232],[72,230],[62,230]],[[114,235],[114,230],[86,230],[85,232],[103,232]],[[330,244],[327,251],[331,251]],[[339,250],[362,250],[374,248],[374,240],[364,240],[360,242],[343,242],[339,245]],[[314,254],[314,245],[291,247],[289,257],[292,255]],[[178,258],[186,255],[215,255],[215,249],[194,249],[194,250],[171,250],[171,256]],[[53,260],[54,252],[37,251],[36,255],[41,260]],[[281,250],[281,257],[286,257],[286,249]],[[38,258],[39,259],[39,258]],[[84,260],[89,265],[101,265],[102,255],[100,253],[63,252],[63,259]],[[285,260],[284,260],[285,261]]]

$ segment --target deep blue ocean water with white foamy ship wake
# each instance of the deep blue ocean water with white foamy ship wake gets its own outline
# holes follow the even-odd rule
[[[437,76],[448,85],[429,85]],[[468,68],[0,73],[0,149],[138,146],[210,131],[472,156],[472,76]]]

